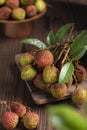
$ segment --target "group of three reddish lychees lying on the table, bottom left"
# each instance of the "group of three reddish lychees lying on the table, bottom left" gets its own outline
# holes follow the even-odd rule
[[[5,104],[7,105],[7,104]],[[39,124],[39,115],[27,110],[27,107],[19,102],[12,102],[9,110],[1,115],[1,124],[7,130],[12,130],[21,122],[25,128],[34,129]]]

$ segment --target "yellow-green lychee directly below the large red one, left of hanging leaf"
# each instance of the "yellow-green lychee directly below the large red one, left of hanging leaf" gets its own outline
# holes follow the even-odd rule
[[[58,80],[59,70],[55,66],[46,66],[43,69],[43,80],[46,83],[53,84]]]

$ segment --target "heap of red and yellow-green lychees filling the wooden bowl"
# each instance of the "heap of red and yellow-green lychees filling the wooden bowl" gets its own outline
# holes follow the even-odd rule
[[[44,0],[0,0],[0,20],[23,20],[45,9]]]

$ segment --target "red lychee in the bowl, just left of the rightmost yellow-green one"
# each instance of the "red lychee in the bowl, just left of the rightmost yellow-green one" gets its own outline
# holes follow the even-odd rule
[[[37,14],[37,9],[34,5],[28,5],[25,8],[27,17],[33,17]]]

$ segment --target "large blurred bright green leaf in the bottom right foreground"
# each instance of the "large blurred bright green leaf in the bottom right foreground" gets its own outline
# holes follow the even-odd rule
[[[48,106],[47,112],[57,130],[87,130],[87,119],[70,105]]]

